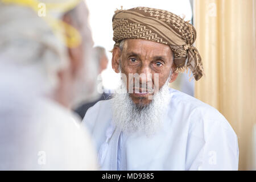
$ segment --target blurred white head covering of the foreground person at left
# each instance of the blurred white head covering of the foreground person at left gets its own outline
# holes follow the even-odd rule
[[[55,16],[64,12],[52,11]],[[60,34],[61,35],[61,34]],[[31,7],[0,2],[0,65],[38,65],[48,77],[47,89],[57,83],[56,73],[67,67],[67,47],[52,27]]]

